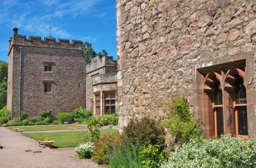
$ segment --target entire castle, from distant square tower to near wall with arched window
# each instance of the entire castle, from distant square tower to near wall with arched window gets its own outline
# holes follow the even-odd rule
[[[164,118],[170,99],[184,96],[207,137],[256,140],[255,1],[116,0],[116,17],[116,76],[111,59],[86,65],[80,41],[26,39],[14,28],[7,98],[13,116],[79,106],[102,115],[118,105],[123,127],[131,118]]]

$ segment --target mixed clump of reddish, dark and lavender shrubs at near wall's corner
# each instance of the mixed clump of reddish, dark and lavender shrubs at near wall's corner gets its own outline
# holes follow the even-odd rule
[[[159,167],[165,161],[164,142],[165,131],[158,121],[133,119],[124,134],[103,135],[94,142],[93,159],[110,167]]]

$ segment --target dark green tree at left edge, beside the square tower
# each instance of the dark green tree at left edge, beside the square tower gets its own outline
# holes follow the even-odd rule
[[[0,61],[0,109],[7,105],[8,63]]]

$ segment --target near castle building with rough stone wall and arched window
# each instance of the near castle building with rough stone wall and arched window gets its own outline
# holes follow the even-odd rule
[[[207,137],[256,140],[256,2],[116,1],[119,126],[184,96]]]

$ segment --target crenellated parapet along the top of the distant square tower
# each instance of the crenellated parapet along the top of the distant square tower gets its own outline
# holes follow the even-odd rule
[[[81,40],[72,39],[72,42],[69,42],[69,39],[58,39],[53,37],[41,37],[29,36],[29,39],[26,38],[26,35],[18,34],[18,28],[13,28],[13,37],[9,40],[9,48],[12,45],[31,45],[31,46],[40,46],[40,47],[61,47],[61,48],[72,48],[72,49],[83,49],[83,42]]]

